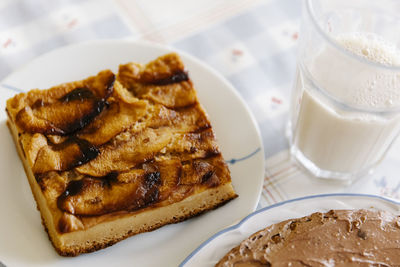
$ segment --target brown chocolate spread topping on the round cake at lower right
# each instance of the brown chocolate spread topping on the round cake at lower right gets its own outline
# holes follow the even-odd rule
[[[400,266],[400,216],[331,210],[261,230],[216,266]]]

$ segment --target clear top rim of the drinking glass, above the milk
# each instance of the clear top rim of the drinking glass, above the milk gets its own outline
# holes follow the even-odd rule
[[[316,0],[307,0],[306,1],[307,13],[308,13],[309,17],[311,18],[312,24],[314,24],[314,27],[316,28],[316,30],[330,45],[332,45],[334,48],[336,48],[340,52],[344,53],[345,55],[349,56],[350,58],[360,61],[361,63],[371,65],[373,67],[389,70],[389,71],[399,71],[400,72],[400,65],[390,66],[390,65],[385,65],[382,63],[368,60],[360,55],[350,52],[349,50],[347,50],[346,48],[341,46],[338,42],[336,42],[335,39],[333,39],[330,34],[328,34],[324,29],[322,29],[320,23],[318,23],[317,18],[315,16],[314,6],[313,6],[314,1],[316,1]]]

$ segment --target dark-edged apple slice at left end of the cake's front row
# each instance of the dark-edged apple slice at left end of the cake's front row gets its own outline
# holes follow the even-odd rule
[[[120,210],[137,210],[158,200],[160,173],[129,173],[132,181],[119,182],[115,173],[101,178],[71,181],[58,198],[59,209],[74,215],[102,215]],[[129,175],[125,174],[125,175]]]

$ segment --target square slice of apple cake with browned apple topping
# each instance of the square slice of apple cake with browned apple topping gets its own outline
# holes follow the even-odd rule
[[[237,196],[176,54],[18,94],[6,111],[60,255],[101,249]]]

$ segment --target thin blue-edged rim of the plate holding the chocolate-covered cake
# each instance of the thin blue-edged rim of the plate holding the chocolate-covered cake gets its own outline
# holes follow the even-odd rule
[[[240,222],[237,224],[231,225],[218,233],[214,234],[210,238],[208,238],[206,241],[204,241],[201,245],[199,245],[195,250],[193,250],[180,264],[179,267],[184,267],[200,250],[202,250],[205,246],[207,246],[209,243],[211,243],[214,239],[217,237],[221,236],[222,234],[225,234],[227,232],[236,230],[240,228],[244,223],[246,223],[251,217],[265,212],[267,210],[286,205],[288,203],[292,202],[298,202],[306,199],[313,199],[313,198],[326,198],[326,197],[366,197],[366,198],[371,198],[371,199],[376,199],[376,200],[381,200],[384,202],[389,202],[391,204],[399,205],[400,206],[400,201],[396,199],[391,199],[388,197],[380,196],[380,195],[373,195],[373,194],[362,194],[362,193],[329,193],[329,194],[318,194],[318,195],[311,195],[311,196],[304,196],[304,197],[298,197],[298,198],[293,198],[293,199],[288,199],[282,202],[278,202],[275,204],[272,204],[270,206],[261,208],[259,210],[256,210],[246,217],[244,217]]]

